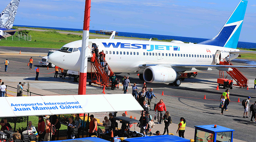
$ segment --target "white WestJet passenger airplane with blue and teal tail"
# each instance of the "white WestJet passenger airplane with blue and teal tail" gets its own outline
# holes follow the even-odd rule
[[[180,86],[180,73],[210,71],[216,68],[231,71],[236,68],[256,68],[256,66],[219,65],[226,56],[233,60],[242,53],[255,51],[240,51],[236,49],[242,23],[244,22],[247,0],[241,0],[226,21],[220,32],[212,39],[204,42],[184,43],[155,42],[124,39],[89,39],[89,52],[92,45],[98,50],[104,50],[106,61],[115,73],[136,73],[139,78],[150,83],[174,83]],[[48,60],[65,69],[79,72],[81,63],[82,40],[65,44],[61,49],[48,56]],[[221,57],[220,57],[221,56]],[[87,72],[91,71],[88,62]]]

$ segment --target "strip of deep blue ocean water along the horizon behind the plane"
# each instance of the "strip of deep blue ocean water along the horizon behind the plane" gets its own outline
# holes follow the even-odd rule
[[[24,25],[14,25],[19,27],[31,27],[31,28],[49,28],[49,29],[57,29],[57,30],[69,30],[69,31],[82,31],[82,29],[74,29],[74,28],[58,28],[58,27],[40,27],[40,26],[24,26]],[[95,33],[97,30],[91,29],[91,33]],[[204,38],[191,38],[191,37],[178,37],[178,36],[171,36],[171,35],[158,35],[158,34],[143,34],[143,33],[128,33],[128,32],[118,32],[118,36],[123,37],[137,37],[137,38],[158,38],[159,40],[162,39],[175,39],[180,40],[182,42],[192,42],[192,43],[200,43],[206,41],[208,39]],[[238,42],[239,48],[256,48],[256,43],[250,42]]]

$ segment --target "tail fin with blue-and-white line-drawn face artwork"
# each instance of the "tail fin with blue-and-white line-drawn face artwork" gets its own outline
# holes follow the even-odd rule
[[[12,0],[0,13],[0,28],[12,28],[19,3],[20,0]]]

